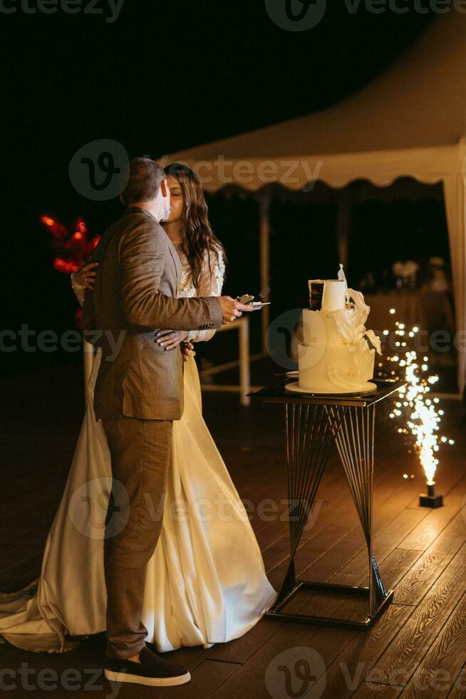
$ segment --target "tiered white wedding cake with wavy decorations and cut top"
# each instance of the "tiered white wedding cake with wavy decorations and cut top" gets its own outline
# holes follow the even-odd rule
[[[366,330],[370,308],[361,292],[348,289],[343,265],[338,279],[309,281],[309,305],[302,315],[294,389],[323,394],[375,390],[371,379],[380,340]]]

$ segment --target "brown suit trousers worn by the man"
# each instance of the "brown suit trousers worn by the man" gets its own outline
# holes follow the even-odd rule
[[[106,653],[124,659],[145,646],[147,628],[141,621],[145,571],[162,527],[172,421],[123,417],[103,419],[102,424],[116,481],[116,528],[105,540]]]

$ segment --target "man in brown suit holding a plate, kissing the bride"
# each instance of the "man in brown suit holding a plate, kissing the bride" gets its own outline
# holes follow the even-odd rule
[[[159,223],[169,215],[170,190],[157,163],[131,160],[121,199],[126,206],[122,218],[91,256],[99,272],[83,307],[86,339],[102,349],[95,418],[102,419],[107,435],[113,479],[129,500],[125,504],[114,494],[115,511],[128,520],[107,541],[105,677],[179,685],[190,680],[190,673],[146,646],[141,621],[146,564],[162,526],[161,514],[155,520],[150,506],[153,512],[154,503],[163,503],[172,421],[183,410],[182,351],[164,350],[155,334],[160,328],[186,335],[219,328],[252,307],[230,297],[177,298],[182,268]]]

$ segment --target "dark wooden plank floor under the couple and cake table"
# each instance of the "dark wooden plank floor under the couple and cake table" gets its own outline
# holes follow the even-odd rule
[[[9,479],[2,496],[0,589],[13,590],[37,576],[43,544],[61,496],[81,418],[77,369],[44,370],[4,382],[21,388],[21,400],[1,415]],[[21,383],[22,382],[22,383]],[[21,386],[20,386],[21,384]],[[63,386],[68,385],[66,399]],[[50,407],[53,405],[53,407]],[[180,688],[111,687],[100,670],[102,635],[71,653],[25,653],[0,646],[2,668],[11,668],[0,695],[96,695],[155,699],[288,699],[328,697],[466,697],[466,434],[460,404],[447,402],[443,432],[454,446],[440,452],[437,491],[445,506],[418,506],[423,477],[386,411],[378,413],[373,545],[393,603],[370,631],[323,628],[263,619],[229,643],[183,648],[167,657],[184,663],[192,680]],[[239,408],[232,395],[206,394],[204,415],[252,514],[266,571],[278,588],[286,570],[286,471],[281,408]],[[414,475],[403,478],[403,474]],[[273,513],[274,504],[278,507]],[[366,549],[336,453],[331,454],[309,525],[296,555],[297,576],[309,581],[367,584]],[[336,594],[302,594],[291,607],[306,613],[357,618],[361,601]],[[30,689],[21,664],[31,670]],[[23,665],[24,667],[24,665]],[[76,690],[63,673],[76,672]],[[93,670],[93,668],[95,668]],[[53,681],[39,670],[54,670]],[[52,675],[53,676],[53,675]],[[42,680],[41,680],[42,681]],[[6,686],[16,683],[14,692]],[[96,691],[100,689],[100,691]],[[34,691],[36,692],[34,694]]]

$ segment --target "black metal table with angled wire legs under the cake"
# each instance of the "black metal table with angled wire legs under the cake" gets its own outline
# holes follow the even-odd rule
[[[372,551],[372,503],[374,471],[374,425],[376,404],[398,391],[403,382],[375,381],[376,389],[367,395],[318,395],[290,392],[286,382],[252,393],[264,403],[281,403],[285,408],[286,471],[289,503],[290,558],[284,581],[267,619],[320,623],[324,626],[366,629],[393,599],[386,590]],[[294,556],[316,497],[332,444],[336,444],[343,470],[361,521],[369,563],[368,587],[296,581]],[[334,616],[309,616],[287,612],[284,607],[296,593],[333,591],[368,598],[368,613],[360,620]]]

